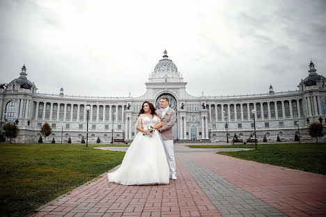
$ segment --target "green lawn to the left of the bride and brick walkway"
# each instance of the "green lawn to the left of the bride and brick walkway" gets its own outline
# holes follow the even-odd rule
[[[118,166],[129,145],[0,144],[0,216],[26,216],[59,195]]]

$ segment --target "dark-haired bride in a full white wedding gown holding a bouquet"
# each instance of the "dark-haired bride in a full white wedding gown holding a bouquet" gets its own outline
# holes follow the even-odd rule
[[[137,130],[120,168],[107,174],[109,182],[123,185],[169,184],[169,165],[157,129],[162,127],[155,107],[143,102],[138,115]],[[150,130],[152,129],[152,130]]]

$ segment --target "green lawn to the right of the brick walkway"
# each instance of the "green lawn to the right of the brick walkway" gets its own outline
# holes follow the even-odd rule
[[[196,148],[255,147],[255,145],[188,145]],[[258,150],[218,152],[239,159],[269,163],[326,175],[326,143],[259,144]]]

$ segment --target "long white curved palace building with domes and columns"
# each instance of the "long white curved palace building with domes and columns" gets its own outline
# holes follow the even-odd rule
[[[326,79],[316,73],[309,64],[309,75],[298,84],[299,90],[259,95],[235,95],[208,97],[192,96],[186,91],[176,65],[164,51],[163,58],[155,65],[146,85],[146,93],[140,97],[77,97],[37,93],[34,83],[27,79],[26,67],[20,77],[0,86],[0,117],[7,122],[16,122],[20,127],[17,141],[34,143],[40,136],[40,127],[45,122],[52,126],[56,143],[68,140],[80,143],[86,138],[88,112],[88,141],[102,143],[114,139],[132,140],[137,134],[135,123],[141,104],[148,100],[160,108],[160,99],[168,97],[170,106],[177,111],[173,136],[178,140],[211,140],[225,142],[226,135],[232,138],[249,138],[254,134],[256,111],[256,135],[258,140],[294,140],[295,134],[309,139],[306,127],[309,122],[325,122]],[[113,129],[113,130],[112,130]]]

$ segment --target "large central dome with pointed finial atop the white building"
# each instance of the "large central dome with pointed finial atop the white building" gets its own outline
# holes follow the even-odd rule
[[[169,59],[166,50],[164,51],[162,60],[155,65],[152,77],[180,77],[178,67]]]

